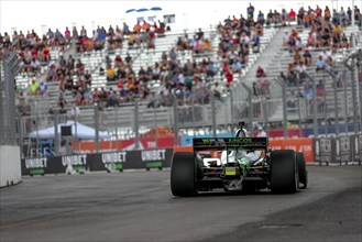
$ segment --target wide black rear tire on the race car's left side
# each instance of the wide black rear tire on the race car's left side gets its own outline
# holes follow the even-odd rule
[[[171,164],[171,191],[174,196],[197,195],[197,167],[194,153],[177,152]]]

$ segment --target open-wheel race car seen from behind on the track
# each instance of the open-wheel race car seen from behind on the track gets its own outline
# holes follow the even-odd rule
[[[307,188],[303,153],[270,150],[267,138],[252,138],[244,122],[233,138],[194,139],[194,152],[174,153],[171,190],[174,196],[202,191],[294,194]],[[211,155],[212,154],[212,155]]]

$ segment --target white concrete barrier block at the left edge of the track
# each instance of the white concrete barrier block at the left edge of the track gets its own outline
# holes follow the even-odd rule
[[[0,145],[0,187],[21,182],[20,147]]]

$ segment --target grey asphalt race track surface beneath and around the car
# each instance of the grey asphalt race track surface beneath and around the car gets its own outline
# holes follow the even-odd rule
[[[362,241],[362,166],[308,166],[294,195],[174,197],[169,170],[23,177],[0,241]]]

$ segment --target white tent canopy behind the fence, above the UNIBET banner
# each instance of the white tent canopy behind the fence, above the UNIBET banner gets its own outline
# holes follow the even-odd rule
[[[65,123],[59,123],[57,127],[58,134],[61,136],[61,127],[72,127],[72,138],[78,140],[96,140],[96,130],[84,125],[79,122],[67,121]],[[29,134],[31,139],[54,139],[55,138],[55,129],[54,127],[46,128],[44,130],[33,131]],[[110,135],[107,132],[99,131],[99,139],[106,140],[110,139]]]

